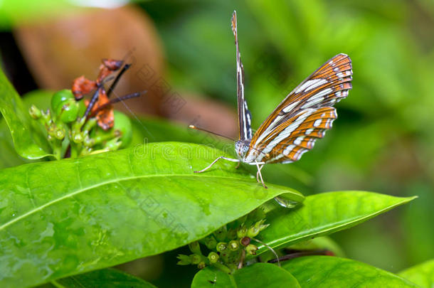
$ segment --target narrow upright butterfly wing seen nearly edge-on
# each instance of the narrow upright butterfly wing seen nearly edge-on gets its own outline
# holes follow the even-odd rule
[[[240,50],[238,48],[238,33],[237,33],[237,14],[233,11],[231,26],[233,36],[235,37],[236,47],[236,60],[237,60],[237,99],[238,99],[238,127],[239,127],[239,139],[250,140],[252,139],[252,129],[250,111],[247,107],[247,102],[244,99],[244,68],[240,59]]]

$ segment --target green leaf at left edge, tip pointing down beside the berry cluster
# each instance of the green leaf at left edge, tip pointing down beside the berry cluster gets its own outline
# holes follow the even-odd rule
[[[0,112],[8,124],[15,150],[20,156],[41,159],[51,155],[40,125],[31,119],[21,98],[1,70]]]

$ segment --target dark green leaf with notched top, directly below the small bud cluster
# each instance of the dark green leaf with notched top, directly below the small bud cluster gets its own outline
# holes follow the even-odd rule
[[[289,272],[270,263],[255,263],[233,274],[206,267],[194,276],[191,288],[297,288],[300,285]]]

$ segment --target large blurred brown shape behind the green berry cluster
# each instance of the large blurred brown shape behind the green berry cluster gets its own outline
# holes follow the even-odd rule
[[[127,105],[133,112],[159,114],[161,91],[150,85],[163,75],[162,45],[154,23],[141,9],[124,6],[73,12],[18,26],[14,36],[41,88],[70,88],[80,75],[96,78],[102,58],[124,59],[132,67],[118,83],[115,95],[148,90]],[[126,110],[122,104],[117,109]]]

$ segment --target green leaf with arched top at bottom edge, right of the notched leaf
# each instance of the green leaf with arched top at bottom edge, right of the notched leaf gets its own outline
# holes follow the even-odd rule
[[[339,257],[308,256],[283,262],[302,288],[417,287],[406,279],[370,265]]]

